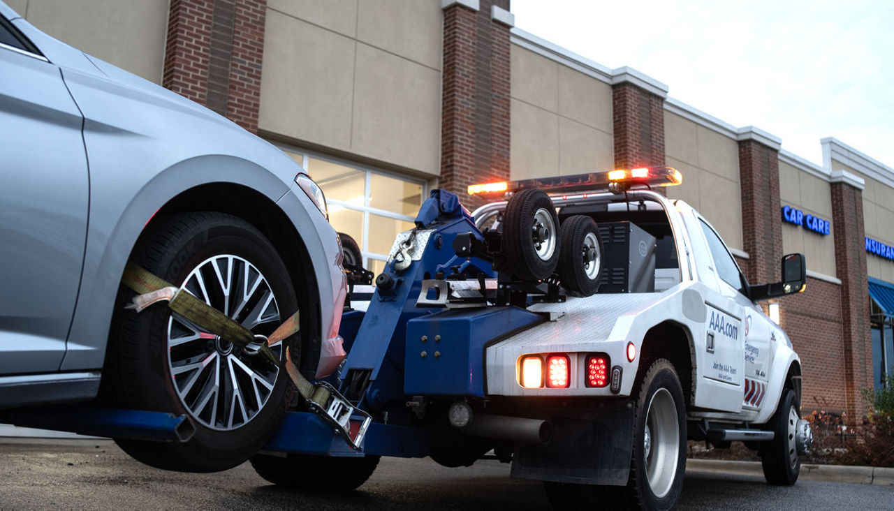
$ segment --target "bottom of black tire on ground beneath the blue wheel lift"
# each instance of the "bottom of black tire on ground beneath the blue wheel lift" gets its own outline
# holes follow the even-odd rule
[[[286,457],[257,454],[251,466],[266,481],[290,488],[330,491],[356,490],[379,465],[379,457],[328,457],[289,454]]]

